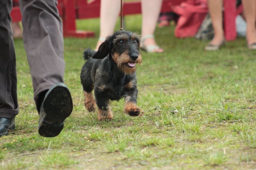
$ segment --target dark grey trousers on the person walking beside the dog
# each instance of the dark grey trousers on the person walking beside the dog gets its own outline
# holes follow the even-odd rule
[[[56,5],[57,0],[19,0],[36,104],[42,91],[63,82],[62,21]],[[0,0],[0,117],[5,118],[13,118],[19,112],[11,8],[11,0]]]

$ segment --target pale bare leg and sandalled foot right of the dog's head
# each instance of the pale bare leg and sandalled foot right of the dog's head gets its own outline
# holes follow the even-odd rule
[[[141,0],[142,11],[142,27],[141,37],[144,38],[147,35],[154,35],[157,19],[160,14],[162,6],[162,0]],[[154,37],[145,38],[143,41],[145,47],[149,45],[157,45]],[[162,52],[161,48],[155,49],[152,52]]]

